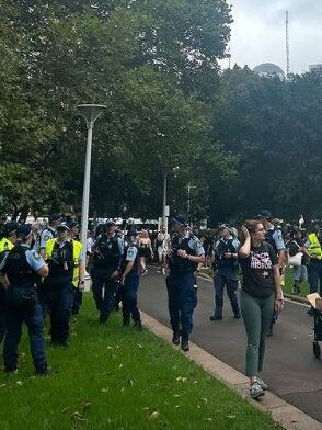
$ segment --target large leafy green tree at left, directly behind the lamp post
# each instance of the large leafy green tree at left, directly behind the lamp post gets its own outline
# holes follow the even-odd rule
[[[229,37],[223,0],[2,0],[1,7],[7,211],[80,210],[80,103],[107,106],[95,125],[91,212],[116,215],[126,203],[134,214],[156,216],[160,176],[174,166],[175,210],[185,208],[184,190],[194,180],[206,204],[207,183],[196,166],[206,150],[214,170],[220,163],[207,101]]]

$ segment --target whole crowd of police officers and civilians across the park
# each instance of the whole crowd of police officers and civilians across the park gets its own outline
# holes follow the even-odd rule
[[[309,280],[310,292],[320,292],[322,249],[319,226],[308,229],[284,225],[268,211],[241,225],[221,224],[216,230],[198,230],[183,215],[172,219],[170,233],[119,230],[108,219],[101,231],[88,231],[87,249],[79,240],[80,226],[71,217],[53,214],[44,228],[7,222],[0,240],[0,343],[4,339],[7,372],[18,369],[18,346],[26,324],[37,374],[46,375],[44,321],[49,319],[50,343],[69,346],[69,320],[82,304],[87,276],[104,325],[122,303],[123,325],[142,330],[137,292],[146,276],[147,261],[166,275],[172,342],[189,350],[193,313],[197,305],[196,278],[204,267],[214,269],[214,313],[211,321],[223,318],[227,290],[232,315],[242,317],[246,337],[246,375],[253,398],[264,395],[260,378],[265,340],[284,305],[283,276],[294,271],[294,294]],[[237,290],[241,285],[240,301]],[[314,309],[310,308],[309,314]]]

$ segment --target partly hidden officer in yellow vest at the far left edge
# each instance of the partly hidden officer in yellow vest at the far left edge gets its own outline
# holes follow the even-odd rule
[[[0,240],[0,264],[7,253],[14,247],[16,241],[16,229],[19,224],[15,222],[5,223]],[[0,344],[5,333],[5,290],[0,285]]]

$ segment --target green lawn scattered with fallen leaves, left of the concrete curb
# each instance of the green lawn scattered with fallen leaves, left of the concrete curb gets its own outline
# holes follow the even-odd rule
[[[1,430],[280,429],[147,329],[99,326],[89,294],[72,326],[69,349],[47,346],[48,377],[23,335],[20,370],[0,373]]]

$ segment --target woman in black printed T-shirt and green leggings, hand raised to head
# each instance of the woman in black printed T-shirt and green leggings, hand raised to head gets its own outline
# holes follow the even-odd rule
[[[283,292],[277,254],[265,241],[260,220],[248,220],[241,227],[239,250],[242,270],[241,314],[248,336],[246,375],[252,398],[263,396],[267,385],[258,378],[263,369],[266,333],[274,310],[283,307]]]

